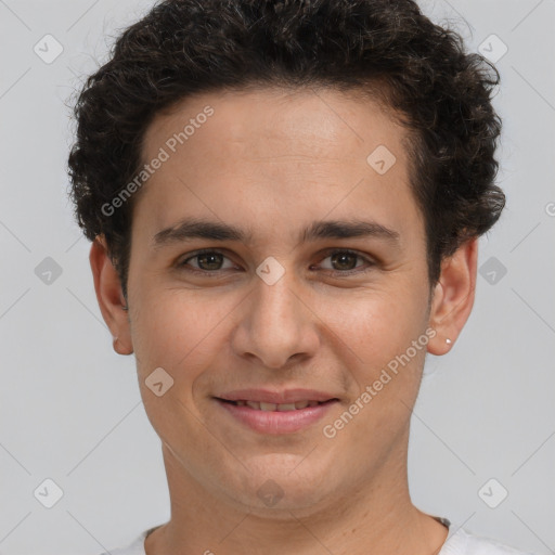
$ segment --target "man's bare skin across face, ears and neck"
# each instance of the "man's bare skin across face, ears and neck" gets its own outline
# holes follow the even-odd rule
[[[437,553],[448,530],[411,502],[409,425],[425,351],[446,353],[472,310],[476,240],[443,261],[430,287],[406,131],[352,94],[258,89],[189,98],[149,127],[144,159],[206,105],[214,115],[134,199],[128,312],[102,236],[90,254],[114,348],[135,353],[163,443],[171,519],[147,537],[147,555]],[[366,163],[380,144],[397,157],[382,176]],[[253,241],[153,246],[157,232],[192,216],[248,227]],[[399,240],[298,241],[306,225],[330,219],[372,220]],[[201,248],[225,258],[191,258]],[[334,261],[330,248],[363,258]],[[269,256],[285,271],[273,285],[256,273]],[[217,268],[216,276],[190,271]],[[323,425],[429,328],[436,335],[427,347],[334,438],[324,437]],[[157,397],[145,379],[160,366],[175,383]],[[264,435],[214,400],[248,387],[310,388],[340,402],[304,430]],[[257,494],[269,479],[283,492],[273,506]]]

